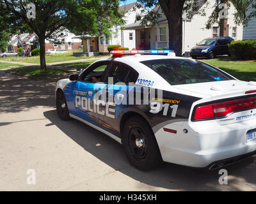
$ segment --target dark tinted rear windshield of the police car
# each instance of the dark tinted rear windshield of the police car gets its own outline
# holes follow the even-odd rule
[[[232,80],[234,78],[202,62],[189,59],[157,59],[143,61],[171,85],[196,84]]]

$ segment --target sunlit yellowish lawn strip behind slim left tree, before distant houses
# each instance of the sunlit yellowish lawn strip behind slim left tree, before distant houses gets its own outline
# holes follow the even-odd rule
[[[98,57],[102,57],[102,56],[98,56]],[[73,61],[73,60],[90,59],[90,58],[93,58],[93,57],[75,57],[73,56],[72,52],[67,52],[63,54],[45,55],[46,63]],[[31,64],[40,64],[40,56],[5,57],[2,60],[9,61],[9,62],[25,62],[25,63],[31,63]]]

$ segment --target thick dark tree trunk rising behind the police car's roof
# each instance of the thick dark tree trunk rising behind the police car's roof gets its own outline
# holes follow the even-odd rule
[[[159,1],[169,27],[169,48],[177,56],[182,55],[182,11],[184,1]]]

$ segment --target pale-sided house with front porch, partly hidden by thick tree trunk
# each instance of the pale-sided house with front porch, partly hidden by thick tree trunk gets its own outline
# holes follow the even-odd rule
[[[205,4],[204,1],[200,1],[200,9],[205,9],[206,16],[193,14],[193,18],[189,20],[186,15],[182,17],[182,52],[189,52],[192,47],[204,40],[204,38],[211,38],[220,36],[220,28],[218,24],[212,25],[211,29],[206,29],[205,24],[211,15],[215,1],[211,1],[209,4]],[[149,48],[163,48],[168,47],[168,23],[166,17],[161,10],[160,6],[154,8],[159,12],[162,17],[159,18],[159,25],[141,25],[140,22],[129,24],[125,29],[135,29],[136,31],[136,49],[147,50]],[[243,38],[243,26],[236,25],[234,23],[233,13],[236,8],[231,4],[228,10],[227,27],[225,28],[227,36],[234,38],[235,40],[241,40]],[[170,31],[171,32],[171,31]]]

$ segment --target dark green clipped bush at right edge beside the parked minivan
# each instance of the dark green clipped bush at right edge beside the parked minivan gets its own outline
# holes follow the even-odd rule
[[[232,41],[228,48],[237,59],[256,59],[256,40]]]

